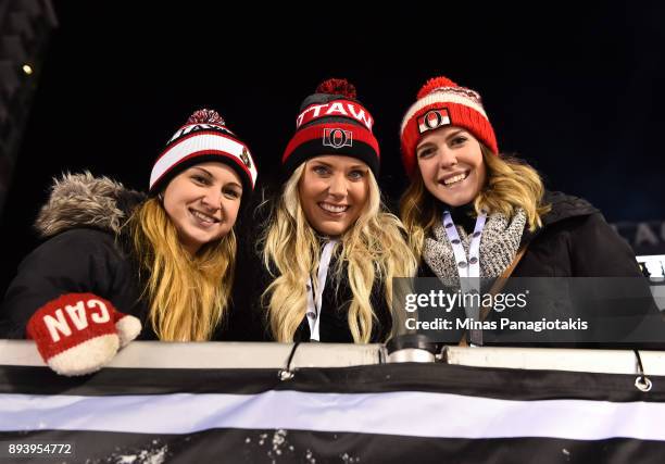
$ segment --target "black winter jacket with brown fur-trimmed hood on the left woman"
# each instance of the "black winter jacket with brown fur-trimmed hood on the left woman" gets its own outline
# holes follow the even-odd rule
[[[121,233],[145,198],[89,173],[57,181],[35,225],[45,241],[20,264],[0,308],[0,338],[25,338],[30,316],[61,294],[91,292],[137,316],[143,327],[138,339],[155,340],[138,266]],[[222,329],[213,339],[223,338]]]

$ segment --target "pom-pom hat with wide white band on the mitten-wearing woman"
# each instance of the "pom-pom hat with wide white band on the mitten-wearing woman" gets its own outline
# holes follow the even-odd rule
[[[259,173],[249,148],[226,127],[216,111],[203,109],[189,116],[156,159],[150,174],[150,193],[159,193],[177,174],[205,161],[234,168],[242,181],[243,193],[254,189]]]

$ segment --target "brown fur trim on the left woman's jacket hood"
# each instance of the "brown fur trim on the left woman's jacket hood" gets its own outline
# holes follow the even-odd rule
[[[49,201],[35,222],[40,237],[47,238],[75,227],[95,227],[120,234],[123,222],[146,195],[125,188],[109,177],[63,174],[54,178]]]

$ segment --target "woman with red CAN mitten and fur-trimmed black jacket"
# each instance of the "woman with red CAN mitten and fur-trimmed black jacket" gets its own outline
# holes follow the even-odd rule
[[[211,110],[168,141],[146,198],[89,173],[53,186],[48,238],[21,264],[2,318],[62,374],[109,362],[135,337],[202,341],[229,309],[241,202],[256,181],[247,146]],[[122,311],[122,312],[121,312]]]

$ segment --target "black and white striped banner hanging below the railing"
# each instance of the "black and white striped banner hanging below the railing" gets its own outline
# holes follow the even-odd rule
[[[71,442],[81,463],[661,463],[665,378],[384,364],[0,366],[0,441]],[[0,459],[0,462],[3,462]],[[46,457],[4,462],[55,462]]]

